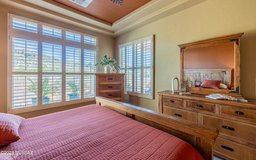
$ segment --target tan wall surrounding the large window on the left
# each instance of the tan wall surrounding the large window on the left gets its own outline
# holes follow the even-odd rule
[[[53,16],[53,18],[48,18],[43,15],[37,15],[32,12],[28,12],[28,10],[20,10],[17,8],[12,8],[10,6],[5,6],[0,3],[0,112],[7,113],[7,67],[8,67],[8,62],[7,62],[7,14],[15,14],[18,16],[23,16],[26,18],[30,18],[33,20],[38,20],[41,22],[45,22],[48,24],[53,24],[56,26],[60,26],[63,28],[67,28],[70,30],[75,30],[78,32],[90,34],[93,36],[98,37],[98,58],[101,58],[103,55],[108,55],[111,56],[111,58],[114,58],[114,38],[110,36],[106,36],[91,30],[88,30],[83,27],[78,27],[72,25],[72,22],[62,20],[62,18],[56,18]],[[104,72],[103,67],[98,68],[98,72],[102,73]],[[95,102],[86,102],[86,103],[81,103],[81,104],[75,104],[75,105],[69,105],[69,106],[64,106],[64,107],[57,107],[57,108],[50,108],[46,110],[40,110],[40,111],[33,111],[33,112],[27,112],[23,114],[18,114],[20,116],[23,116],[24,118],[29,118],[33,116],[40,116],[43,114],[48,114],[51,112],[58,112],[60,110],[67,110],[70,108],[78,107],[78,106],[84,106],[86,104],[92,104]]]

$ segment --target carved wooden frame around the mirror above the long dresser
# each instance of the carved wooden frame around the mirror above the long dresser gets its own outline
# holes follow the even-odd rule
[[[234,90],[222,90],[222,89],[212,89],[212,88],[203,88],[203,87],[190,87],[188,92],[197,93],[197,94],[226,94],[230,96],[240,96],[240,37],[244,33],[232,34],[229,36],[222,36],[218,38],[211,38],[207,40],[200,40],[196,42],[190,42],[186,44],[179,44],[180,47],[180,86],[182,86],[183,78],[183,51],[190,48],[200,48],[204,46],[212,46],[217,44],[225,44],[234,42],[235,46],[235,66],[234,66]],[[181,89],[182,90],[182,89]]]

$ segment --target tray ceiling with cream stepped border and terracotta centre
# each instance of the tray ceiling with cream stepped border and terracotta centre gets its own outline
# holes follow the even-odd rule
[[[205,1],[123,0],[118,6],[110,0],[93,0],[86,8],[69,0],[0,0],[0,4],[116,37]]]

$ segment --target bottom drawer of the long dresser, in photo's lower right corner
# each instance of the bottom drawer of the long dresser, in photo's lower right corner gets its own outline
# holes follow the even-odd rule
[[[255,160],[256,149],[242,144],[218,137],[214,143],[214,153],[224,154],[224,156],[234,160]]]

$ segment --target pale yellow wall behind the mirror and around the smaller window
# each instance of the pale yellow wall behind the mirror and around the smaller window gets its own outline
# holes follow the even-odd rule
[[[157,92],[180,77],[178,44],[244,32],[241,38],[241,94],[256,99],[256,1],[208,0],[116,38],[118,44],[155,34],[155,99],[126,96],[126,102],[158,111]]]

